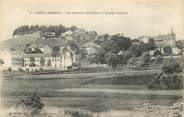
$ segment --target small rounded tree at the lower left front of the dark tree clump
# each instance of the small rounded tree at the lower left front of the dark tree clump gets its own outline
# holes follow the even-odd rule
[[[119,63],[118,55],[112,51],[109,51],[105,56],[105,61],[109,66],[115,68]]]

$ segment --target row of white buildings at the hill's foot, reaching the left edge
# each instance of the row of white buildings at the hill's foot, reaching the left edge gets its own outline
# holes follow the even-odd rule
[[[39,52],[34,52],[40,49]],[[53,55],[54,48],[49,45],[43,47],[27,48],[29,52],[16,54],[11,51],[0,51],[3,63],[1,69],[22,70],[26,72],[50,71],[50,70],[73,70],[78,68],[76,53],[70,46],[58,47]]]

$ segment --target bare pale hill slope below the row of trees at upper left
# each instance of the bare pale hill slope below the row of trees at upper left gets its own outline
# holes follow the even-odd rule
[[[44,45],[49,45],[50,47],[54,46],[63,46],[66,45],[68,41],[62,38],[47,38],[41,39],[38,32],[32,34],[25,34],[25,35],[17,35],[15,38],[3,41],[0,43],[0,49],[3,50],[16,50],[16,51],[23,51],[27,44],[31,46],[38,46],[42,47]]]

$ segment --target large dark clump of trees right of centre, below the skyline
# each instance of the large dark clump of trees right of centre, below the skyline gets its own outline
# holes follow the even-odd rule
[[[143,61],[149,61],[150,50],[155,50],[156,44],[153,39],[149,39],[148,43],[138,41],[133,43],[132,39],[123,35],[113,35],[110,39],[97,41],[102,49],[95,55],[89,57],[91,63],[107,64],[115,68],[118,64],[125,65],[131,58],[143,56]],[[145,55],[143,53],[147,52]],[[148,58],[148,59],[147,59]]]

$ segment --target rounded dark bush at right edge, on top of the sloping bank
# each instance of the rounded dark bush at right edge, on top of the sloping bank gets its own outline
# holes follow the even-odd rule
[[[162,66],[162,71],[165,74],[181,73],[182,68],[174,59],[170,59],[164,62]]]

